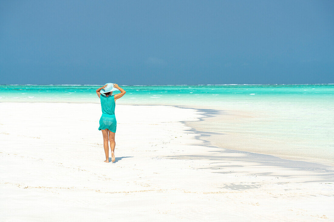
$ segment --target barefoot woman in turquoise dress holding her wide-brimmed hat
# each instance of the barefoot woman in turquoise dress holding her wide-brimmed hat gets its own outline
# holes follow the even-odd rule
[[[107,87],[107,88],[106,88]],[[102,90],[102,93],[100,92]],[[113,91],[119,90],[121,93],[112,95]],[[115,161],[115,133],[116,133],[116,117],[115,117],[115,101],[121,98],[126,92],[124,89],[119,87],[117,84],[108,83],[101,88],[96,90],[102,108],[102,116],[100,118],[99,130],[102,131],[103,135],[103,147],[106,153],[106,160],[104,162],[109,163],[109,146],[110,141],[111,149],[111,161]]]

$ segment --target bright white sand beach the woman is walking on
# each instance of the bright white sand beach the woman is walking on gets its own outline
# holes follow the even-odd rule
[[[100,104],[0,110],[1,221],[334,221],[333,167],[207,145],[195,109],[116,105],[114,163]]]

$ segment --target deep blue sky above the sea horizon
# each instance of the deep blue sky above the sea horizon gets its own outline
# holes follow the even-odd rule
[[[0,84],[334,83],[334,1],[1,1]]]

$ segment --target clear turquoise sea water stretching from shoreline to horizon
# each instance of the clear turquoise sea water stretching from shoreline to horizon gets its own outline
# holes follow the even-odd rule
[[[0,85],[0,102],[99,103],[96,85]],[[237,113],[202,121],[221,147],[334,165],[334,85],[122,86],[118,104],[178,105]],[[206,125],[205,125],[206,124]],[[230,136],[230,137],[228,137]]]

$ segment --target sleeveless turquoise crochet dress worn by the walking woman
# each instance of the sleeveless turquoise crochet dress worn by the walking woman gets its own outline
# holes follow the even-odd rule
[[[105,96],[100,95],[102,116],[100,118],[99,130],[109,129],[113,133],[116,133],[116,117],[115,117],[115,99],[114,95]]]

